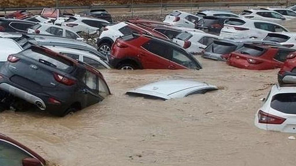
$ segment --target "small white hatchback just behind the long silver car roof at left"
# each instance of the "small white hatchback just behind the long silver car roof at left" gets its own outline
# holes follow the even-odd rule
[[[28,33],[55,35],[55,36],[61,36],[61,37],[70,38],[70,39],[83,40],[83,38],[81,38],[76,32],[73,32],[68,28],[60,27],[57,25],[42,24],[42,23],[39,23],[38,25],[30,27],[28,29]]]

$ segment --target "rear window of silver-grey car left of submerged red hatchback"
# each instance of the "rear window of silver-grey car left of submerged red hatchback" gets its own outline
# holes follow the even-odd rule
[[[227,43],[227,42],[221,42],[221,41],[213,41],[212,44],[210,44],[205,51],[206,52],[212,52],[217,54],[229,54],[237,48],[237,45]]]

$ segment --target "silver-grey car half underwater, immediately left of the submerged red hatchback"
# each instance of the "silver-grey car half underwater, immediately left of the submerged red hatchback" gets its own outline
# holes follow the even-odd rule
[[[208,45],[204,51],[202,51],[203,58],[209,58],[218,61],[226,61],[229,58],[231,52],[241,48],[244,44],[261,44],[272,45],[280,47],[281,44],[274,41],[262,41],[253,39],[220,39],[214,40],[213,43]]]

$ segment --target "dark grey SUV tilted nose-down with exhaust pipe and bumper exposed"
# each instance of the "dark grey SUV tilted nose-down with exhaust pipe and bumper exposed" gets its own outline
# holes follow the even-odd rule
[[[110,95],[99,71],[36,45],[10,55],[0,76],[2,91],[59,117]]]

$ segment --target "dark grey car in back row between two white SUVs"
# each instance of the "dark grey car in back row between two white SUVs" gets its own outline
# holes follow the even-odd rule
[[[227,17],[204,16],[196,24],[195,28],[207,33],[219,35]]]

